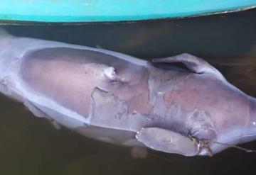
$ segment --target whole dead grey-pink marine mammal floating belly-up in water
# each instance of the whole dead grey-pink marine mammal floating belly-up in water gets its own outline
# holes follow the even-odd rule
[[[146,62],[3,30],[0,47],[1,93],[87,137],[185,156],[207,154],[191,137],[227,144],[255,139],[255,98],[193,55]],[[213,153],[227,148],[209,147]]]

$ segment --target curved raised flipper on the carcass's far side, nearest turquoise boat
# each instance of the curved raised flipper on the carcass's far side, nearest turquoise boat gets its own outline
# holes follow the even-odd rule
[[[215,74],[220,79],[224,79],[223,75],[215,69],[215,67],[211,66],[208,62],[201,59],[200,57],[195,57],[188,53],[183,53],[181,55],[176,55],[174,57],[164,57],[164,58],[156,58],[153,59],[154,63],[172,63],[172,62],[181,62],[191,70],[191,72],[195,72],[197,74],[210,73]]]

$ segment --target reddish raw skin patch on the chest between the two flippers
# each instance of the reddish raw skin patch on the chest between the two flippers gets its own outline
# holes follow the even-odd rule
[[[196,96],[201,98],[196,98]],[[233,101],[238,101],[238,103],[233,104]],[[249,111],[249,101],[238,89],[230,89],[225,82],[218,79],[206,79],[203,75],[187,79],[176,90],[166,91],[164,102],[168,108],[174,103],[182,106],[183,110],[186,111],[193,111],[198,108],[207,111],[211,116],[223,115],[225,118],[230,118],[228,123],[222,118],[215,118],[214,124],[218,125],[217,130],[219,132],[225,130],[228,125],[241,125],[242,123],[245,125],[242,116],[247,115],[247,113],[241,111],[240,108],[247,108]],[[216,108],[221,110],[215,110]],[[234,111],[236,112],[234,113]],[[233,115],[230,115],[231,113]]]

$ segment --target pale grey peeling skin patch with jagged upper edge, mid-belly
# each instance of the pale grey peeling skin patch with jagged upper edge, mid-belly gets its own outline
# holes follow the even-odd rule
[[[137,131],[147,123],[141,113],[129,113],[126,101],[115,94],[95,88],[92,91],[93,116],[91,125],[102,128]],[[104,115],[103,115],[104,114]]]

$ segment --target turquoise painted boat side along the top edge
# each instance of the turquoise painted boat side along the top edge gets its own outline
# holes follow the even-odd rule
[[[253,8],[256,0],[1,0],[0,20],[137,21]]]

